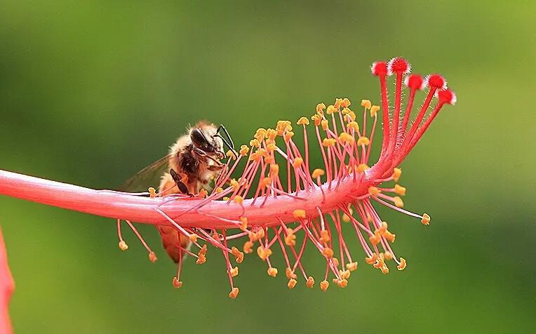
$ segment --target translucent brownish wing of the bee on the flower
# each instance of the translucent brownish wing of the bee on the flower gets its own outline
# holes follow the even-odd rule
[[[118,190],[121,192],[147,192],[148,187],[158,189],[160,178],[168,170],[170,154],[154,161],[149,166],[143,168],[132,178],[126,180]]]

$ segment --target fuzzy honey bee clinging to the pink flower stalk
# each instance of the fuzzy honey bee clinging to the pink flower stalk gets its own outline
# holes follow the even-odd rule
[[[221,134],[225,133],[227,139]],[[224,145],[236,156],[233,141],[225,126],[215,126],[199,121],[171,145],[169,154],[136,173],[127,180],[121,190],[139,191],[150,185],[147,181],[160,175],[159,193],[187,194],[194,196],[201,189],[210,189],[210,181],[216,180],[225,166],[222,159]],[[189,248],[191,241],[174,227],[156,225],[163,248],[170,258],[178,262],[182,248]],[[180,246],[179,246],[180,245]]]

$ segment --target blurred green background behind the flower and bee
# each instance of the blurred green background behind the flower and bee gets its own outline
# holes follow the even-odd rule
[[[528,332],[535,326],[536,5],[531,1],[0,1],[0,168],[109,188],[200,117],[235,142],[347,96],[378,102],[374,60],[402,55],[458,95],[403,163],[386,208],[403,272],[364,265],[321,293],[246,257],[175,266],[114,221],[0,199],[18,333]],[[356,103],[357,104],[357,103]],[[354,254],[359,245],[351,243]],[[319,276],[311,251],[306,262]],[[279,265],[283,269],[282,265]]]

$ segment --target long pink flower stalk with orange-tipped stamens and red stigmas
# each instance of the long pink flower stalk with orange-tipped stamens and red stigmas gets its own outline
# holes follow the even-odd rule
[[[192,241],[192,247],[186,249],[177,240],[180,260],[173,278],[176,288],[182,286],[180,271],[185,255],[196,258],[201,264],[207,258],[207,245],[215,246],[225,255],[231,298],[239,293],[233,280],[238,267],[233,267],[229,259],[240,263],[243,253],[252,253],[253,248],[267,263],[270,276],[278,274],[270,255],[276,248],[281,249],[288,288],[295,286],[298,274],[309,288],[314,286],[313,277],[307,274],[300,261],[307,243],[311,243],[326,261],[319,284],[321,290],[327,290],[328,277],[337,286],[347,286],[350,273],[357,268],[355,255],[352,257],[347,247],[351,237],[361,244],[368,264],[387,274],[387,263],[393,261],[397,269],[402,270],[406,260],[391,248],[395,235],[382,221],[373,203],[406,213],[429,225],[430,217],[426,213],[420,215],[403,209],[400,196],[406,193],[406,188],[396,184],[401,175],[397,167],[442,107],[453,105],[456,98],[446,88],[442,76],[431,74],[423,78],[409,74],[410,64],[402,58],[375,62],[372,72],[380,79],[381,108],[362,100],[361,112],[354,112],[347,98],[337,98],[328,107],[323,103],[317,105],[316,113],[311,116],[312,126],[305,117],[297,121],[297,130],[303,131],[303,149],[293,139],[295,133],[290,121],[279,121],[274,129],[258,129],[250,145],[241,146],[237,159],[233,160],[232,154],[228,154],[227,165],[215,180],[210,194],[201,192],[191,198],[182,194],[159,196],[152,188],[138,194],[93,190],[6,171],[0,171],[0,194],[115,218],[122,250],[128,248],[120,225],[121,220],[126,220],[149,251],[152,261],[156,260],[156,255],[130,221],[175,227]],[[388,76],[394,76],[396,83],[392,107],[389,107],[387,92]],[[404,109],[403,84],[409,91]],[[427,90],[426,98],[410,122],[415,95],[421,90]],[[436,102],[431,107],[434,96]],[[382,149],[378,161],[369,168],[380,109]],[[311,128],[316,135],[314,143],[307,138]],[[321,169],[310,166],[309,149],[313,145],[321,152],[324,163]],[[243,159],[247,161],[241,176],[232,179],[231,175]],[[286,171],[286,177],[280,175],[281,169]],[[342,234],[344,224],[353,227],[355,236]],[[232,230],[239,232],[231,234]],[[243,251],[228,246],[227,241],[238,238],[246,239]]]

